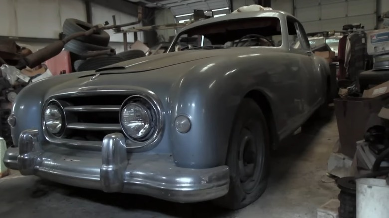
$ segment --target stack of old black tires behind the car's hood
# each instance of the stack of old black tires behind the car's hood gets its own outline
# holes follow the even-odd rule
[[[92,24],[77,20],[66,19],[63,23],[62,31],[69,36],[74,33],[86,32],[93,27]],[[82,60],[81,57],[87,52],[112,50],[108,46],[110,36],[105,31],[94,33],[89,36],[80,36],[65,44],[64,48],[71,53],[73,69],[75,71],[96,70],[111,64],[116,64],[125,60],[144,57],[145,53],[139,50],[125,51],[115,55],[101,55]]]

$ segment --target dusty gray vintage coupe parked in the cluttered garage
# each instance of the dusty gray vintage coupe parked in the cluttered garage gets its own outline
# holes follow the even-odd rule
[[[331,81],[292,15],[210,18],[165,54],[23,89],[3,161],[72,186],[239,209],[265,191],[269,151],[328,104]]]

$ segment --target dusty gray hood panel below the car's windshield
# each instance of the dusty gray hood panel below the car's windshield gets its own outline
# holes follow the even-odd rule
[[[239,55],[250,55],[258,54],[262,52],[279,52],[281,49],[274,48],[222,48],[214,50],[190,50],[190,51],[180,51],[180,52],[171,52],[159,55],[151,55],[142,58],[136,58],[117,64],[109,65],[100,69],[97,69],[95,72],[100,74],[105,73],[133,73],[133,72],[142,72],[150,71],[159,68],[164,68],[172,65],[182,64],[186,62],[191,62],[200,59],[206,59],[211,57],[220,57],[220,56],[239,56]],[[90,73],[88,75],[91,75]]]

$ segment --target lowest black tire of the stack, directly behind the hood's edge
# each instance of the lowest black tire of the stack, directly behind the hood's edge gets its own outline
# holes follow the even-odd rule
[[[96,70],[122,61],[124,61],[124,59],[118,56],[99,56],[89,58],[78,66],[78,71]]]

